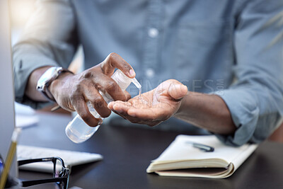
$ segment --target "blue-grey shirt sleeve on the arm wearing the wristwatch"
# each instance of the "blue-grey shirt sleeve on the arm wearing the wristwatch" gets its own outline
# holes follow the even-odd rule
[[[42,108],[47,103],[25,96],[25,87],[33,70],[45,66],[67,68],[78,45],[74,12],[67,0],[37,1],[20,40],[13,47],[13,71],[16,101]]]

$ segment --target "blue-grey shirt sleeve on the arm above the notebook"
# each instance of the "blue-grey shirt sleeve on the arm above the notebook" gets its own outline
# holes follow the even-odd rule
[[[282,122],[283,1],[249,1],[234,34],[236,82],[218,94],[237,130],[226,144],[262,142]],[[219,91],[218,91],[219,92]]]

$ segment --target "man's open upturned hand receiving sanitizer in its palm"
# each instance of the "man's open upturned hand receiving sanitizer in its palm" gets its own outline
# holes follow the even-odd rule
[[[150,126],[168,120],[177,113],[182,98],[187,94],[187,86],[170,79],[154,90],[142,93],[127,102],[113,101],[108,108],[130,122]]]

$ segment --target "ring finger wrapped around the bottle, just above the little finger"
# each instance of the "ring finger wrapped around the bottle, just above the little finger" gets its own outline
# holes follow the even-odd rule
[[[91,102],[93,108],[96,109],[96,112],[102,117],[107,118],[111,114],[111,110],[108,109],[108,104],[105,102],[103,97],[98,93],[96,88],[88,87],[85,88],[83,93],[84,98],[86,101]]]

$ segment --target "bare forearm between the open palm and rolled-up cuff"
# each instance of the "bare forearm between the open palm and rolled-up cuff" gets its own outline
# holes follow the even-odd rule
[[[182,100],[175,118],[217,134],[233,134],[236,126],[221,97],[190,92]]]

